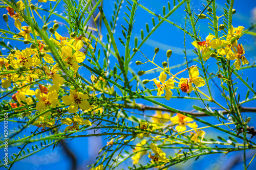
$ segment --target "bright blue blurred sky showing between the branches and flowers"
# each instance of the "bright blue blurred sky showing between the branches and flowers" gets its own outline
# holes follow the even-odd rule
[[[120,1],[120,0],[119,0]],[[37,3],[37,1],[31,1],[33,4]],[[113,9],[114,9],[114,2],[115,1],[103,1],[103,11],[106,15],[106,18],[108,21],[112,20],[112,15],[113,15]],[[154,11],[156,14],[161,14],[162,15],[162,7],[166,6],[167,8],[167,2],[168,1],[153,1],[153,0],[140,0],[139,3],[142,4],[143,6],[147,7],[148,9]],[[225,6],[226,1],[219,0],[217,1],[217,15],[221,16],[223,15],[223,8]],[[198,9],[203,9],[204,7],[202,6],[202,3],[206,4],[206,1],[200,0],[197,1],[195,0],[193,3],[193,6],[195,8],[196,13],[199,13],[197,10]],[[52,4],[55,4],[55,2],[52,2]],[[63,2],[58,5],[58,8],[56,9],[56,12],[62,15],[65,15],[63,11],[65,11],[65,7],[63,7]],[[172,3],[171,3],[172,4]],[[42,5],[42,8],[49,9],[49,2],[48,3],[39,3],[39,6]],[[124,1],[124,4],[122,5],[121,12],[119,14],[119,19],[117,21],[117,26],[116,26],[116,31],[115,31],[115,38],[116,38],[116,43],[118,45],[118,50],[120,55],[124,56],[125,48],[124,46],[118,41],[118,37],[123,37],[122,35],[122,27],[121,25],[126,26],[127,23],[124,21],[123,16],[125,16],[124,12],[127,12],[128,10],[125,8],[125,5],[127,5],[127,2]],[[172,7],[172,5],[171,5]],[[243,26],[245,29],[248,29],[256,22],[256,1],[255,0],[250,0],[250,1],[234,1],[234,9],[236,9],[236,14],[233,15],[233,21],[232,25],[233,27],[238,27],[238,26]],[[185,16],[186,13],[184,12],[184,6],[181,6],[177,11],[175,11],[170,17],[168,18],[169,20],[172,20],[174,22],[177,22],[177,25],[181,25],[181,27],[184,26],[185,24]],[[95,16],[98,14],[95,12]],[[7,10],[2,8],[0,11],[1,16],[3,14],[7,13]],[[42,15],[47,16],[47,12],[42,12]],[[146,34],[146,27],[145,23],[148,23],[150,26],[150,30],[153,28],[152,24],[152,17],[153,15],[146,12],[142,8],[138,7],[137,12],[136,12],[136,21],[133,27],[133,33],[132,33],[132,38],[131,38],[131,47],[134,47],[134,38],[138,37],[138,44],[142,41],[141,36],[140,36],[140,30],[144,30],[144,37],[147,35]],[[51,20],[57,20],[58,22],[64,22],[64,20],[59,19],[58,17],[52,16]],[[157,22],[158,18],[155,17],[155,20]],[[200,33],[199,35],[202,36],[203,39],[209,34],[210,29],[208,28],[208,19],[200,19],[198,22],[199,30]],[[7,26],[3,18],[0,18],[0,23],[1,29],[7,30]],[[157,22],[158,23],[158,22]],[[220,18],[219,23],[222,23],[222,18]],[[9,17],[9,22],[8,22],[11,30],[14,30],[14,20]],[[23,26],[25,26],[25,23],[22,23]],[[40,22],[38,22],[39,27],[42,27],[42,23],[40,25]],[[65,24],[65,22],[64,22]],[[70,37],[68,30],[66,29],[65,25],[60,25],[58,28],[57,32],[64,36],[64,37]],[[52,26],[53,23],[50,25]],[[188,25],[188,23],[187,23]],[[90,27],[95,28],[94,23],[91,22],[89,24]],[[251,30],[252,32],[255,32],[254,30]],[[104,26],[102,27],[102,36],[103,36],[103,41],[106,42],[106,30]],[[95,32],[93,34],[96,35]],[[2,41],[3,39],[1,39]],[[8,40],[4,40],[5,43],[8,43]],[[188,35],[186,35],[186,50],[187,50],[187,58],[188,60],[191,60],[196,57],[196,55],[192,52],[191,49],[193,49],[193,45],[191,45],[191,42],[193,42],[193,39],[191,39]],[[245,56],[252,64],[254,61],[256,61],[256,51],[255,51],[255,36],[251,35],[243,35],[240,40],[240,43],[243,44],[245,47]],[[93,41],[93,44],[95,41]],[[18,49],[23,49],[26,47],[25,44],[23,44],[20,41],[10,41],[10,44],[13,46],[16,46]],[[172,50],[173,55],[170,58],[170,66],[171,65],[177,65],[180,63],[183,63],[184,60],[184,32],[177,29],[173,25],[170,25],[170,23],[164,22],[152,35],[151,37],[143,44],[143,46],[140,48],[140,50],[144,53],[144,55],[148,58],[153,58],[154,56],[154,48],[159,47],[160,51],[157,54],[155,61],[159,65],[163,61],[166,61],[166,51],[167,50]],[[3,55],[7,55],[8,50],[5,48],[1,49]],[[117,61],[112,57],[110,58],[111,62],[110,65],[114,66]],[[154,68],[153,65],[150,64],[144,64],[137,66],[135,64],[135,61],[140,60],[140,61],[146,61],[146,59],[140,54],[137,53],[135,57],[133,58],[132,62],[130,63],[130,67],[135,71],[139,70],[146,70],[150,68]],[[84,60],[85,63],[88,61]],[[217,72],[216,70],[216,60],[213,58],[210,58],[206,64],[209,64],[209,72]],[[103,61],[99,61],[100,64],[103,63]],[[211,64],[214,63],[214,64]],[[191,65],[195,65],[196,62],[190,63]],[[175,68],[172,71],[173,72],[178,72],[181,69],[184,69],[185,66],[181,68]],[[242,74],[243,72],[243,78],[245,79],[246,77],[249,77],[248,79],[248,84],[251,84],[251,82],[256,82],[256,77],[254,74],[256,74],[255,69],[246,69],[240,72]],[[155,74],[146,74],[141,77],[141,79],[152,79],[153,77],[158,77],[160,72],[156,72]],[[86,69],[80,69],[79,74],[82,75],[84,78],[88,78],[91,76],[90,71]],[[188,74],[187,72],[184,72],[180,76],[187,77]],[[128,79],[132,79],[131,75],[128,76]],[[217,78],[216,78],[217,79]],[[218,83],[218,80],[216,80]],[[240,92],[241,99],[245,99],[245,95],[247,92],[247,87],[244,86],[241,82],[238,83],[237,85],[239,87],[238,91]],[[154,86],[152,83],[147,84],[147,88],[153,88]],[[141,87],[140,87],[141,88]],[[254,88],[255,89],[255,88]],[[133,89],[136,90],[136,89]],[[201,90],[207,91],[207,87],[201,87]],[[176,90],[173,90],[173,95],[177,95]],[[212,94],[214,95],[214,99],[218,99],[219,103],[224,103],[225,100],[222,98],[221,93],[218,91],[217,88],[212,88]],[[155,94],[156,95],[156,92]],[[183,95],[183,94],[182,94]],[[193,96],[193,94],[191,94]],[[252,97],[252,94],[249,95],[249,97]],[[203,103],[200,103],[198,101],[190,101],[190,100],[180,100],[180,99],[171,99],[170,101],[166,101],[165,99],[156,99],[158,102],[162,102],[167,106],[173,107],[175,109],[180,109],[180,110],[186,110],[190,111],[193,110],[193,105],[197,105],[199,107],[203,107]],[[151,103],[148,103],[144,100],[136,100],[138,103],[145,104],[145,105],[152,105]],[[243,101],[243,100],[241,100]],[[256,102],[248,102],[245,103],[243,106],[245,107],[255,107]],[[211,107],[216,107],[212,105]],[[134,112],[140,112],[138,110],[134,110]],[[153,115],[153,111],[147,111],[145,112],[146,115]],[[248,124],[249,126],[256,126],[256,116],[255,113],[244,113],[246,116],[251,117],[251,121]],[[218,120],[215,120],[212,117],[202,117],[203,120],[212,123],[212,124],[218,124]],[[203,127],[203,124],[197,123],[199,127]],[[3,122],[0,123],[0,127],[4,127]],[[9,122],[9,130],[13,129],[14,125]],[[16,127],[17,128],[17,127]],[[34,131],[36,127],[31,127],[30,130],[24,131],[23,133],[27,136],[30,135],[30,131]],[[98,130],[97,133],[100,133],[101,130]],[[205,138],[209,139],[214,136],[223,136],[225,134],[221,133],[221,131],[216,131],[213,129],[205,129],[206,135]],[[1,134],[3,134],[3,128],[0,128]],[[89,133],[94,133],[93,131],[88,131],[84,132],[82,134],[89,134]],[[252,141],[256,141],[256,137],[253,137],[251,139]],[[62,144],[59,144],[58,147],[56,147],[54,150],[52,147],[49,147],[41,152],[38,152],[34,154],[31,157],[25,158],[23,160],[20,160],[19,162],[14,163],[12,169],[27,169],[27,170],[50,170],[50,169],[62,169],[62,170],[68,170],[76,167],[79,170],[82,169],[90,169],[87,167],[88,165],[94,163],[96,160],[95,158],[98,156],[98,152],[100,149],[106,145],[106,142],[108,140],[104,139],[103,137],[87,137],[87,138],[76,138],[76,139],[68,139],[63,141]],[[139,141],[139,140],[138,140]],[[136,142],[134,142],[136,144]],[[9,153],[18,153],[19,149],[16,147],[9,148]],[[166,152],[166,151],[164,151]],[[174,155],[174,153],[177,152],[176,150],[174,151],[169,151],[166,152],[167,155]],[[3,150],[0,151],[0,158],[2,159],[3,157]],[[255,154],[255,151],[247,151],[247,164]],[[185,163],[180,163],[178,165],[172,166],[169,169],[242,169],[243,168],[243,159],[242,159],[242,154],[243,152],[232,152],[227,155],[224,154],[214,154],[214,155],[208,155],[204,157],[200,157],[197,161],[194,159],[188,160]],[[127,169],[128,165],[132,165],[133,160],[128,159],[125,163],[121,164],[118,169]],[[142,159],[140,160],[140,163],[146,164],[148,163],[147,155],[143,156]],[[256,166],[256,160],[251,163],[248,169],[255,169]],[[3,168],[4,169],[4,168]]]

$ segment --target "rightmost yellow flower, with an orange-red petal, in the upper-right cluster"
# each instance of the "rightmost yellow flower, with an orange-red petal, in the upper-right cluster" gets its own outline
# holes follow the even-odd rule
[[[245,54],[245,51],[244,51],[244,47],[242,44],[238,44],[237,49],[233,48],[233,51],[234,51],[234,53],[232,51],[230,51],[226,57],[229,60],[236,60],[236,61],[234,61],[234,66],[237,69],[240,69],[241,61],[242,61],[243,65],[249,63],[249,61],[243,56]]]

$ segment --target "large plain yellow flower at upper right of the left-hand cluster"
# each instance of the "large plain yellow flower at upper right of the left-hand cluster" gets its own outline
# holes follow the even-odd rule
[[[71,46],[63,46],[61,48],[61,56],[62,59],[69,65],[69,67],[76,72],[79,67],[77,63],[83,62],[83,60],[86,58],[86,55],[79,51],[73,51],[74,49]]]

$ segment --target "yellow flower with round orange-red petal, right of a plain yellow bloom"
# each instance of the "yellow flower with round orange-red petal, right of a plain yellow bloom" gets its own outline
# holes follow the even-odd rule
[[[190,93],[193,90],[192,83],[194,83],[197,87],[202,87],[205,85],[205,81],[203,78],[198,77],[199,70],[197,67],[193,67],[189,69],[189,79],[180,79],[179,87],[181,91]]]

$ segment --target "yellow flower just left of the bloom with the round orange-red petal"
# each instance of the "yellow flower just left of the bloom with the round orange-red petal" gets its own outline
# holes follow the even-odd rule
[[[157,95],[164,94],[163,90],[165,90],[165,99],[170,100],[173,95],[173,92],[170,91],[170,89],[174,88],[174,81],[172,79],[168,79],[167,81],[165,81],[166,77],[167,76],[165,75],[165,72],[162,71],[159,76],[159,81],[157,79],[154,79],[154,83],[157,86]]]

